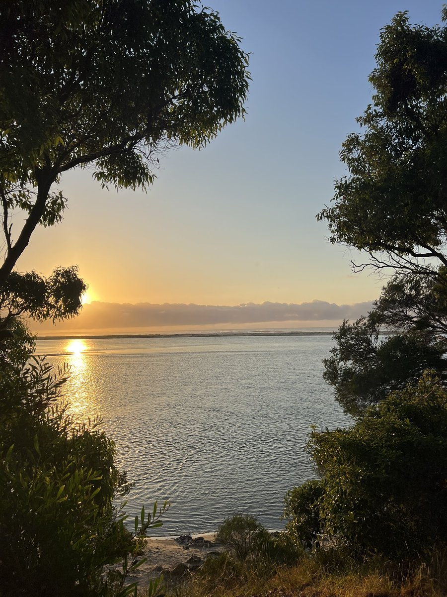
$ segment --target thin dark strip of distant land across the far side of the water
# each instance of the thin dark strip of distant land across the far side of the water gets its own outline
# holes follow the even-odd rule
[[[72,334],[71,336],[38,336],[37,340],[72,340],[79,338],[82,340],[113,340],[117,338],[251,338],[256,336],[334,336],[336,330],[333,331],[249,331],[249,332],[203,332],[203,333],[185,333],[185,334],[104,334],[88,336],[86,334]],[[387,335],[393,332],[384,330],[381,334]]]

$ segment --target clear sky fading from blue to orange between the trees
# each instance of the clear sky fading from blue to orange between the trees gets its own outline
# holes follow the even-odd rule
[[[381,27],[403,10],[413,23],[439,23],[442,4],[206,4],[243,38],[242,47],[251,54],[246,119],[226,127],[206,149],[182,147],[160,157],[157,179],[147,193],[103,190],[88,171],[64,175],[60,188],[69,199],[64,220],[51,229],[39,228],[18,262],[18,270],[44,275],[56,266],[77,264],[88,282],[85,298],[92,304],[85,304],[79,321],[59,325],[56,332],[90,329],[95,321],[101,321],[101,330],[254,323],[251,316],[238,319],[237,309],[228,311],[229,321],[215,315],[210,322],[207,309],[191,321],[186,308],[191,303],[265,303],[257,313],[265,324],[272,316],[271,327],[324,325],[355,316],[360,303],[366,312],[380,293],[384,280],[368,272],[354,275],[350,260],[358,254],[331,245],[326,224],[315,215],[330,202],[334,180],[346,174],[339,150],[371,101],[368,75]],[[303,303],[313,303],[311,318]],[[132,311],[127,321],[132,325],[117,321],[123,312],[117,304]],[[175,323],[168,324],[148,318],[166,304],[180,305],[177,312],[184,319],[177,314]],[[271,304],[302,307],[289,309],[293,317],[285,320]],[[344,307],[328,313],[325,304]],[[138,312],[145,313],[141,320],[135,319]]]

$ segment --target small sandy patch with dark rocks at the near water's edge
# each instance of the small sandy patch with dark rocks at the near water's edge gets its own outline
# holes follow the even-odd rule
[[[185,536],[188,537],[188,536]],[[224,547],[216,543],[214,533],[178,538],[147,538],[142,558],[147,560],[128,577],[129,582],[144,585],[150,578],[163,574],[165,580],[177,581],[193,571],[209,556],[218,555]]]

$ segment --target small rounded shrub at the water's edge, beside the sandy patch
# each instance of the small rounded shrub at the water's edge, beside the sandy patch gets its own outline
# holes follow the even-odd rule
[[[216,539],[229,548],[235,558],[244,561],[250,553],[263,549],[269,533],[254,516],[237,514],[219,525]]]

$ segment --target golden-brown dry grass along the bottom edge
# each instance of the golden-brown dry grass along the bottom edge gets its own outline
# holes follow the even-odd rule
[[[411,569],[411,572],[409,570]],[[140,593],[145,595],[144,592]],[[423,564],[361,564],[332,550],[302,555],[293,566],[241,563],[221,556],[166,597],[446,597],[447,552]]]

